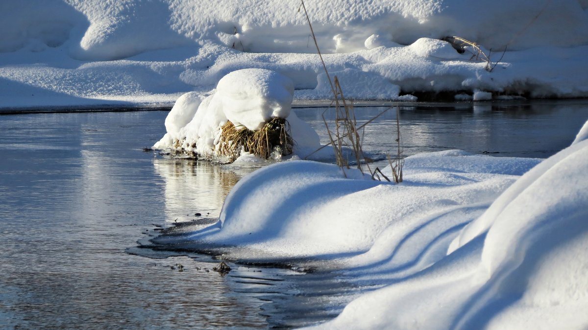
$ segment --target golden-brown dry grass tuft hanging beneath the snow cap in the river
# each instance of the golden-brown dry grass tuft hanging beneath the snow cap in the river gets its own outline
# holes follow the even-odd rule
[[[269,159],[272,153],[279,156],[291,154],[294,143],[286,119],[272,118],[256,131],[235,127],[228,121],[221,127],[219,154],[234,161],[243,149],[262,159]]]

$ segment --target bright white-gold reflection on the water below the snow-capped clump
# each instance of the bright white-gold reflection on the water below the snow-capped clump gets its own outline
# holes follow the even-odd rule
[[[165,182],[166,221],[171,222],[218,217],[229,191],[251,171],[193,159],[154,159],[153,167]]]

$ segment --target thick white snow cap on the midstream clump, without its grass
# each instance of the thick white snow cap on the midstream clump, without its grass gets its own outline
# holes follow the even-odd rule
[[[230,72],[208,96],[190,92],[179,97],[165,119],[165,135],[153,147],[218,159],[226,156],[220,134],[227,120],[238,129],[259,130],[280,117],[288,120],[295,153],[310,153],[320,146],[319,136],[290,112],[293,92],[292,80],[271,70]]]

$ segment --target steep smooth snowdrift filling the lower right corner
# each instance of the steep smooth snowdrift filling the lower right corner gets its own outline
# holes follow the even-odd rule
[[[365,329],[588,327],[588,141],[524,174],[453,244],[332,322]]]

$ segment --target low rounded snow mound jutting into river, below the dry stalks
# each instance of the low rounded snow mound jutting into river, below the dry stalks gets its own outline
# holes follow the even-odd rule
[[[332,164],[285,161],[239,181],[226,197],[220,230],[155,241],[236,246],[228,254],[239,260],[346,257],[348,267],[416,272],[445,256],[450,238],[537,161],[423,154],[406,159],[411,170],[400,185],[359,171],[345,179]]]

